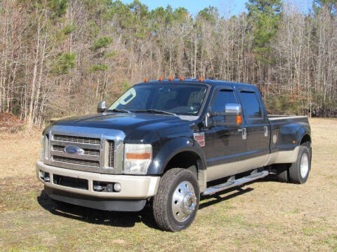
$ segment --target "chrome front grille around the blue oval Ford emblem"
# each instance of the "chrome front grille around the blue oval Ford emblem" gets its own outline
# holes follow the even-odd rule
[[[123,173],[125,136],[120,130],[58,125],[47,134],[46,165],[101,174]],[[67,146],[74,148],[66,152]]]

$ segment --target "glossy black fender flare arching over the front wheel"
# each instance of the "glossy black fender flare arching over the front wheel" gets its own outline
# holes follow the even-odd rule
[[[167,141],[164,146],[161,146],[159,152],[152,160],[147,174],[162,174],[171,158],[183,151],[191,151],[192,153],[198,155],[202,162],[202,167],[199,168],[206,169],[206,158],[199,144],[197,144],[194,139],[180,137],[177,139],[171,139]]]

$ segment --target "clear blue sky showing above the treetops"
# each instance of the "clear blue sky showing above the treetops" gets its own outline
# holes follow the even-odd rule
[[[131,3],[133,0],[121,0],[123,3]],[[290,0],[291,1],[291,0]],[[308,13],[308,8],[312,5],[312,0],[292,0],[297,6],[298,10],[303,13]],[[246,11],[244,0],[140,0],[149,7],[150,10],[159,6],[166,7],[170,5],[174,8],[184,7],[192,15],[197,15],[199,10],[202,10],[209,6],[215,6],[218,8],[220,15],[230,17],[232,15],[239,15]]]

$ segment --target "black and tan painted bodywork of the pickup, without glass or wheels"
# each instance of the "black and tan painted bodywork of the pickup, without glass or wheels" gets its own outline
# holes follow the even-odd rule
[[[194,83],[207,85],[206,98],[197,116],[169,116],[155,113],[114,113],[104,112],[91,116],[81,116],[59,120],[49,125],[45,133],[65,132],[71,134],[94,132],[98,137],[116,137],[118,132],[121,148],[123,144],[152,144],[152,163],[146,176],[160,176],[169,162],[187,153],[187,157],[197,160],[197,174],[201,192],[207,181],[246,172],[275,163],[294,162],[298,146],[310,139],[310,125],[306,117],[268,116],[263,99],[254,85],[230,83],[217,80],[163,80],[140,83],[179,85]],[[242,109],[240,127],[217,126],[206,128],[206,113],[219,90],[232,90],[237,104],[242,104],[241,92],[253,92],[262,108],[262,116],[256,120],[246,118]],[[223,104],[225,108],[225,102]],[[196,134],[204,135],[204,146],[196,141]],[[122,153],[122,150],[121,150]],[[122,155],[119,153],[119,155]],[[119,157],[122,160],[122,156]],[[47,165],[53,165],[46,162]],[[119,162],[122,165],[122,162]],[[72,167],[62,167],[72,169]],[[100,174],[120,174],[105,172],[104,169],[91,170]]]

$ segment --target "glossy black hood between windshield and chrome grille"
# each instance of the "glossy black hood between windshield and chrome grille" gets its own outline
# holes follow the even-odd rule
[[[187,117],[187,119],[190,119]],[[154,113],[99,113],[95,115],[66,118],[53,122],[53,125],[74,127],[95,127],[121,130],[129,142],[153,142],[161,137],[190,132],[190,120],[178,116]]]

